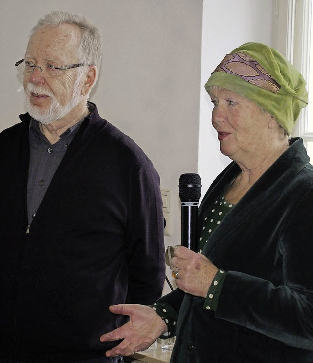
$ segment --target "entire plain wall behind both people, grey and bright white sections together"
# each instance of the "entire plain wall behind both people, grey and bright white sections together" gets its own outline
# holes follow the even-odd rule
[[[1,0],[0,10],[0,130],[24,112],[14,63],[23,57],[30,28],[50,10],[89,16],[103,35],[91,101],[144,149],[161,187],[171,190],[173,235],[165,243],[179,244],[180,174],[198,172],[203,196],[228,164],[210,124],[204,83],[233,48],[270,43],[272,0]]]

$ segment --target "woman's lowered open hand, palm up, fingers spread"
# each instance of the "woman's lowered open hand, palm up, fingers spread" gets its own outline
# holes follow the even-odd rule
[[[167,331],[165,322],[149,306],[119,304],[112,305],[109,309],[114,314],[128,315],[130,320],[100,337],[101,342],[124,339],[106,352],[107,357],[130,356],[134,352],[143,351]]]

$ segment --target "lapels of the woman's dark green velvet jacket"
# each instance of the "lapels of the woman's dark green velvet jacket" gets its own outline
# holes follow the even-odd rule
[[[267,204],[270,208],[271,200],[279,195],[282,185],[292,185],[293,176],[304,168],[309,158],[304,147],[300,147],[302,140],[291,139],[292,145],[280,158],[256,181],[244,197],[229,211],[221,224],[212,233],[209,242],[206,243],[203,254],[210,256],[215,248],[224,241],[234,239],[234,236],[242,233],[242,224],[251,220],[251,215],[257,210],[266,210]],[[297,148],[297,152],[294,152]],[[216,198],[224,193],[225,186],[238,175],[240,169],[232,162],[216,178],[207,193],[205,194],[199,208],[199,227],[202,227],[203,214],[215,202]],[[267,203],[268,201],[268,203]],[[199,230],[199,235],[200,235]]]

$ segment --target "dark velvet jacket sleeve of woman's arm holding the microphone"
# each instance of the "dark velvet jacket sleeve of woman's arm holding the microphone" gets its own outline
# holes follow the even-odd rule
[[[289,216],[276,251],[282,260],[283,283],[275,286],[262,278],[227,271],[215,317],[289,346],[313,350],[312,190]]]

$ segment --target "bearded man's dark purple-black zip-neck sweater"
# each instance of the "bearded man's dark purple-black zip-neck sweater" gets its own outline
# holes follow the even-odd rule
[[[26,234],[28,114],[0,134],[0,357],[60,362],[104,356],[101,334],[149,304],[164,278],[159,176],[129,137],[82,122]]]

